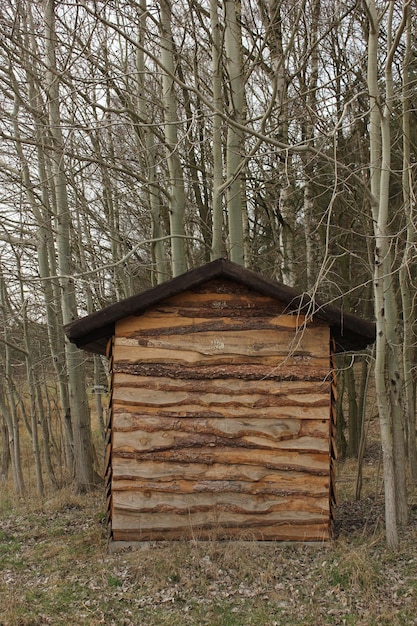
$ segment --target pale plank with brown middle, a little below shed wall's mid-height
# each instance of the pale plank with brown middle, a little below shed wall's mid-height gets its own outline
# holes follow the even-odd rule
[[[281,450],[306,451],[312,453],[328,452],[329,441],[315,437],[297,437],[291,439],[272,437],[259,434],[240,435],[239,437],[217,435],[214,433],[163,431],[147,432],[113,431],[114,452],[157,452],[161,450],[182,450],[184,448],[204,448],[214,446],[216,449],[233,447],[233,449],[247,448],[250,450]]]

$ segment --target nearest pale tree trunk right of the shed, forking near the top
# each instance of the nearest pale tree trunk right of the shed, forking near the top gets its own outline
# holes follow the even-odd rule
[[[393,3],[387,12],[385,103],[378,82],[378,37],[380,17],[374,0],[366,0],[369,19],[368,89],[370,98],[370,182],[375,234],[374,300],[376,317],[375,388],[384,463],[385,522],[387,543],[398,547],[397,524],[407,521],[404,470],[404,440],[400,409],[402,373],[397,346],[398,313],[389,250],[389,185],[391,171],[392,61],[402,23],[392,36]]]

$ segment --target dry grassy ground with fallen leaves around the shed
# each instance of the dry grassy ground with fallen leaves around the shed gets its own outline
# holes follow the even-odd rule
[[[0,626],[417,625],[417,493],[397,553],[384,541],[380,452],[339,464],[325,544],[174,542],[109,554],[101,491],[0,493]]]

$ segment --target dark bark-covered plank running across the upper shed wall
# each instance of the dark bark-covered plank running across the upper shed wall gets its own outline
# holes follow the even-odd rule
[[[130,362],[123,359],[114,362],[113,372],[148,377],[168,377],[181,380],[229,380],[247,381],[326,381],[329,376],[328,360],[322,359],[319,365],[310,363],[289,363],[283,360],[275,366],[263,363],[152,363]]]

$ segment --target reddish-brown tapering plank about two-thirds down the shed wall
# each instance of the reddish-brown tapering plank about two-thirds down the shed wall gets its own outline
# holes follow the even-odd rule
[[[136,452],[127,449],[113,449],[115,456],[143,461],[162,461],[187,464],[198,463],[226,465],[264,465],[269,469],[292,469],[313,474],[329,474],[329,452],[300,452],[298,450],[257,450],[245,448],[182,448],[180,450],[159,450]]]

